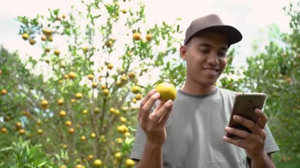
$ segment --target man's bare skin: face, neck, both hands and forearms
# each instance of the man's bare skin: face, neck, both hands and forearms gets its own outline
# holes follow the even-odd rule
[[[187,46],[181,46],[180,55],[187,62],[187,78],[182,90],[188,94],[205,95],[215,90],[215,83],[223,73],[227,64],[227,40],[223,34],[204,32],[193,37]],[[143,158],[138,168],[162,168],[162,145],[167,135],[165,123],[172,112],[173,102],[169,100],[161,103],[150,114],[150,109],[159,99],[159,93],[151,90],[143,99],[138,115],[139,123],[147,135]],[[271,154],[263,150],[265,132],[263,130],[267,117],[261,110],[255,111],[259,122],[254,122],[241,116],[234,116],[234,120],[245,125],[252,134],[234,128],[225,127],[225,132],[243,137],[245,140],[223,139],[233,145],[246,150],[251,159],[252,168],[275,168]]]

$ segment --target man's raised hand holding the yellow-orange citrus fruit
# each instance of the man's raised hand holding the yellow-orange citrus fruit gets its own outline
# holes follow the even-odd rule
[[[159,102],[155,110],[150,114],[154,103],[159,99],[160,94],[152,89],[142,100],[138,120],[140,126],[147,135],[147,142],[152,145],[162,145],[166,139],[166,121],[173,108],[173,101],[166,103]]]

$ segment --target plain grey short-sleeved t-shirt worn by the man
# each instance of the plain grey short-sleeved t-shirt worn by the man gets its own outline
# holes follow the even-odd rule
[[[178,90],[166,123],[164,168],[249,168],[245,150],[223,140],[235,94],[219,87],[202,96]],[[278,151],[267,125],[265,132],[265,152]],[[141,160],[145,142],[146,134],[138,125],[131,159]]]

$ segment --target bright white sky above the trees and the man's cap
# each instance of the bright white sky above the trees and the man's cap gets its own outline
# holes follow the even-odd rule
[[[181,17],[181,27],[185,30],[197,17],[218,14],[225,24],[234,26],[243,34],[243,40],[233,45],[239,52],[234,59],[236,65],[245,64],[246,57],[252,55],[254,40],[259,40],[263,49],[264,44],[268,42],[269,25],[276,24],[283,32],[291,31],[290,18],[282,9],[288,2],[287,0],[144,0],[146,21],[150,25],[162,21],[173,23],[177,17]],[[67,13],[71,10],[72,4],[79,3],[80,0],[5,0],[0,5],[0,45],[9,51],[18,50],[20,55],[38,54],[36,48],[30,48],[21,40],[18,35],[19,25],[15,18],[19,15],[34,17],[37,14],[47,14],[48,8],[60,8],[62,13]]]

